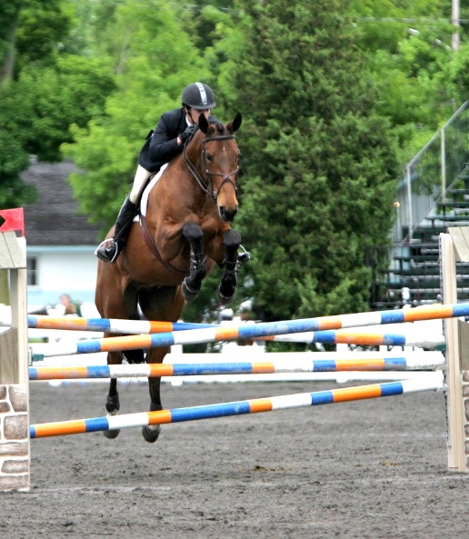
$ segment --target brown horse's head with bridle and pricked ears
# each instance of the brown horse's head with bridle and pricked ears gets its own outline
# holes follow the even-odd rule
[[[240,152],[234,134],[241,121],[239,113],[226,125],[210,124],[205,115],[200,115],[199,128],[203,138],[201,141],[196,138],[197,142],[200,141],[200,155],[194,162],[198,166],[185,157],[186,165],[205,193],[215,200],[224,221],[233,221],[238,211],[236,193]]]

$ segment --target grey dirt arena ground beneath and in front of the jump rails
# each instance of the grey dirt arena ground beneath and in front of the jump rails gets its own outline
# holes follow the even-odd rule
[[[165,407],[331,389],[334,383],[164,384]],[[106,385],[31,385],[31,423],[105,414]],[[148,406],[120,389],[123,413]],[[467,536],[469,475],[446,469],[444,395],[31,441],[32,488],[0,494],[0,537]]]

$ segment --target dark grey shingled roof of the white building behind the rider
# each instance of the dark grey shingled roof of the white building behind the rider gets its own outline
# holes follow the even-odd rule
[[[80,215],[67,176],[76,170],[71,161],[37,163],[22,175],[26,185],[35,185],[37,200],[25,205],[25,235],[28,245],[95,245],[100,227]]]

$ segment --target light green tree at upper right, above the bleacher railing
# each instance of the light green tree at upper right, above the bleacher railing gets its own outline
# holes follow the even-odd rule
[[[439,0],[352,0],[347,10],[379,95],[376,110],[390,120],[403,167],[465,100],[456,102],[448,85],[461,55],[450,46],[450,8]]]

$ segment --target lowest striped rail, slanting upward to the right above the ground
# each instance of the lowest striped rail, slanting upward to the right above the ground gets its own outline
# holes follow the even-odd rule
[[[441,389],[441,380],[403,380],[384,384],[361,385],[318,391],[313,393],[289,394],[260,399],[249,399],[233,403],[208,404],[185,408],[172,408],[157,412],[138,414],[108,415],[90,419],[77,419],[55,423],[32,424],[29,427],[31,438],[62,436],[65,434],[84,434],[97,431],[116,430],[128,427],[149,426],[153,424],[181,423],[198,419],[211,419],[231,415],[273,412],[288,408],[337,404],[384,396],[433,391]]]

